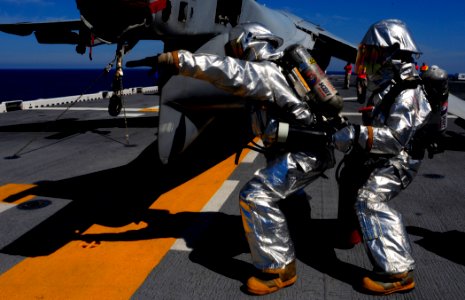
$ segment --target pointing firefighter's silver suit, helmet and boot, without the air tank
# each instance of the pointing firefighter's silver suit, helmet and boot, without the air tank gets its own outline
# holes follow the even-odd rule
[[[159,63],[169,61],[178,67],[179,75],[206,80],[236,96],[258,102],[258,109],[252,113],[252,129],[266,147],[275,142],[279,122],[268,114],[268,109],[260,107],[277,108],[272,110],[277,110],[287,124],[297,127],[305,128],[316,122],[309,105],[298,97],[275,63],[283,55],[276,50],[281,43],[281,38],[260,24],[247,23],[230,32],[227,44],[230,56],[179,50],[161,54]],[[325,104],[329,114],[337,118],[342,98],[332,95]],[[249,292],[268,294],[296,281],[296,254],[278,202],[302,191],[334,166],[330,139],[331,134],[326,138],[327,146],[322,142],[323,146],[315,146],[314,151],[281,151],[267,157],[266,166],[257,170],[241,189],[240,212],[257,269],[257,274],[247,281]]]

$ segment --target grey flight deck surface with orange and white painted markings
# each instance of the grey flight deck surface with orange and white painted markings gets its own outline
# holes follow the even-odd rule
[[[355,88],[332,79],[346,116],[361,122]],[[106,100],[0,114],[0,299],[254,297],[243,288],[252,266],[237,199],[263,157],[244,151],[236,166],[226,151],[234,130],[213,131],[163,165],[158,96],[125,102],[126,118],[109,116]],[[425,158],[392,201],[412,240],[416,289],[386,299],[465,297],[465,121],[450,115],[446,137],[446,151]],[[332,246],[335,171],[288,201],[298,281],[262,298],[379,298],[357,288],[371,268],[363,246]]]

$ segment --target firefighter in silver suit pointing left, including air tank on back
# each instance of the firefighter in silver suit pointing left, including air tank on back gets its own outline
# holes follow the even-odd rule
[[[163,53],[157,60],[175,65],[179,75],[210,82],[246,99],[252,107],[254,134],[265,149],[273,149],[267,152],[266,166],[255,172],[239,195],[244,230],[258,271],[248,279],[247,288],[254,294],[268,294],[297,279],[294,246],[278,202],[334,166],[334,148],[326,134],[342,122],[342,98],[305,48],[292,45],[277,52],[282,39],[262,25],[236,26],[229,38],[225,49],[231,57],[180,50]],[[313,80],[307,82],[303,71]],[[316,84],[319,89],[310,88]],[[320,139],[302,138],[302,128],[319,128],[325,134]],[[283,132],[287,135],[277,134]]]

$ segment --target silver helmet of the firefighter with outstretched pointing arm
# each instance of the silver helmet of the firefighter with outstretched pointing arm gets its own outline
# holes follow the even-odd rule
[[[231,29],[226,52],[235,58],[249,61],[270,60],[276,56],[276,49],[282,44],[283,39],[263,25],[245,23]]]

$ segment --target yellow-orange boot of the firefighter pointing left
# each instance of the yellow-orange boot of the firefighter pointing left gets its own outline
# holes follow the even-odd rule
[[[284,269],[265,270],[254,277],[250,277],[247,281],[247,290],[256,295],[266,295],[292,285],[296,280],[294,260],[286,265]]]

